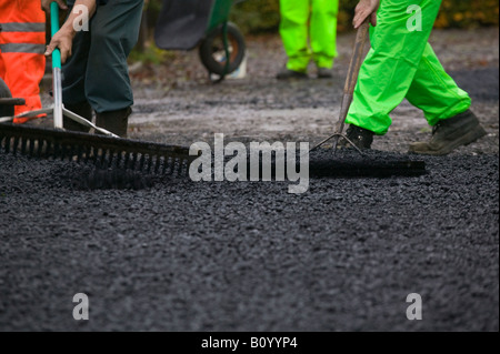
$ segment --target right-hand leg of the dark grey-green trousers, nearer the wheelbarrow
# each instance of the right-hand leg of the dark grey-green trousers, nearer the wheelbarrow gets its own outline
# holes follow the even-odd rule
[[[142,0],[98,6],[90,23],[86,95],[96,112],[133,104],[127,58],[139,37]]]

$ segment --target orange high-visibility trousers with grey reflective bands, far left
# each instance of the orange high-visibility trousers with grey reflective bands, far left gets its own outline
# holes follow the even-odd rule
[[[0,0],[0,77],[12,97],[26,100],[26,105],[16,107],[16,114],[41,109],[46,13],[40,0]]]

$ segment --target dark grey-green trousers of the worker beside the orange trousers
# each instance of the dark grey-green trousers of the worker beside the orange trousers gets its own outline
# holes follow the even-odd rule
[[[127,57],[139,37],[142,0],[110,0],[98,6],[90,31],[78,32],[62,65],[64,104],[88,101],[98,112],[133,104]]]

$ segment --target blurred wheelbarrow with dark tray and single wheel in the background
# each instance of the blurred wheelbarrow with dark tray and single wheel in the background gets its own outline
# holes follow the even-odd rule
[[[244,0],[163,0],[154,42],[164,50],[198,47],[203,67],[222,81],[242,63],[247,50],[238,26],[229,21],[233,4]],[[229,60],[228,60],[229,58]]]

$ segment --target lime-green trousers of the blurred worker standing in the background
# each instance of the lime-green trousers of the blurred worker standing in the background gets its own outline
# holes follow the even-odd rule
[[[280,34],[289,70],[306,72],[311,58],[318,68],[333,67],[338,12],[339,0],[280,0]]]

